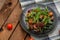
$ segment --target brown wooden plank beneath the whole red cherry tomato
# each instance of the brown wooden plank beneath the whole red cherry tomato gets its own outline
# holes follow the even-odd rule
[[[13,32],[14,28],[18,23],[21,12],[22,12],[21,7],[19,7],[19,4],[18,4],[14,9],[14,11],[11,13],[10,17],[5,22],[3,26],[3,31],[0,33],[0,40],[8,40],[10,34]],[[11,31],[7,30],[6,28],[6,25],[8,23],[11,23],[13,25],[13,29]]]

